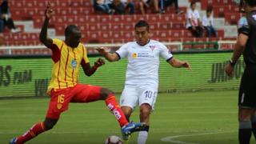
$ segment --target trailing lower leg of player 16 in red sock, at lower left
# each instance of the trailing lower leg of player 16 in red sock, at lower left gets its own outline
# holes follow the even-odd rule
[[[27,142],[30,139],[36,137],[38,134],[41,134],[46,130],[52,129],[57,122],[58,119],[46,118],[45,122],[38,122],[37,124],[32,126],[30,130],[26,131],[25,134],[22,134],[21,136],[18,136],[16,138],[12,138],[10,140],[10,144],[23,144],[24,142]]]

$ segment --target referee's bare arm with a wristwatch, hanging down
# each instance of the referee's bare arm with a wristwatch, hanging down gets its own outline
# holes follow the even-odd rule
[[[238,40],[234,45],[232,58],[230,59],[230,62],[226,65],[226,68],[225,68],[226,74],[229,75],[230,77],[233,76],[234,65],[242,55],[242,52],[245,49],[247,40],[248,40],[248,35],[242,34],[242,33],[238,35]]]

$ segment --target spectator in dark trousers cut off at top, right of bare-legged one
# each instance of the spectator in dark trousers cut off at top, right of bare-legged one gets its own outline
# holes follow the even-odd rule
[[[168,6],[172,6],[174,4],[174,8],[175,8],[175,13],[176,14],[182,14],[183,11],[179,10],[178,8],[178,0],[159,0],[159,5],[161,7],[161,12],[165,13],[165,9]]]

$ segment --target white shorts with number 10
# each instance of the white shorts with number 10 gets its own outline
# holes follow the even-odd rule
[[[154,103],[158,97],[158,86],[143,85],[143,86],[128,86],[122,90],[120,98],[121,106],[129,106],[134,110],[136,106],[141,106],[147,103],[154,110]]]

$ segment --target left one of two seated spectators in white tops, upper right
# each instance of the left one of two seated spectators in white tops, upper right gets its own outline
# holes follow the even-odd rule
[[[188,10],[186,15],[186,29],[191,30],[195,37],[201,38],[203,35],[203,26],[200,21],[200,15],[198,10],[195,9],[196,3],[191,2],[190,10]]]

